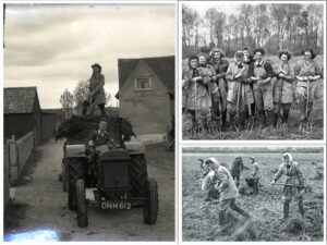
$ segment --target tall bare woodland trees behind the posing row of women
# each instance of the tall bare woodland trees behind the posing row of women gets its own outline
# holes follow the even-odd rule
[[[300,54],[305,47],[323,52],[323,11],[318,3],[243,3],[233,14],[213,7],[199,16],[183,4],[183,56],[205,50],[214,37],[229,57],[243,47],[264,47],[272,54],[279,49]]]

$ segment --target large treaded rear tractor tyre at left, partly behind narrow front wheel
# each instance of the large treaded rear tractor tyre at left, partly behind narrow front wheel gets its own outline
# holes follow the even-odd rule
[[[66,161],[68,167],[68,206],[71,210],[76,210],[76,181],[84,180],[83,159],[71,158]]]

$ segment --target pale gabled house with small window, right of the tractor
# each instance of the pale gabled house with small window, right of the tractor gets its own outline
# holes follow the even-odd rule
[[[162,135],[174,119],[174,57],[119,59],[119,114],[135,134]]]

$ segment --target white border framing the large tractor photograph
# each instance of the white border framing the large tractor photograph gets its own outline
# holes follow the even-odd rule
[[[82,0],[69,0],[69,1],[63,1],[63,0],[23,0],[23,1],[20,1],[20,0],[15,0],[15,1],[11,1],[11,0],[4,0],[4,1],[1,1],[1,10],[0,10],[0,13],[1,13],[1,26],[3,26],[3,7],[2,4],[5,3],[5,4],[25,4],[25,3],[35,3],[35,4],[144,4],[144,5],[153,5],[153,4],[171,4],[172,7],[174,7],[174,22],[175,22],[175,26],[174,26],[174,34],[175,34],[175,47],[174,47],[174,50],[175,50],[175,71],[177,68],[178,68],[178,60],[177,60],[177,47],[178,47],[178,4],[177,4],[177,0],[143,0],[143,1],[138,1],[138,0],[120,0],[120,1],[117,1],[117,0],[113,0],[113,1],[110,1],[110,0],[104,0],[104,1],[92,1],[92,0],[86,0],[86,1],[82,1]],[[1,40],[3,41],[3,28],[1,29]],[[1,44],[2,45],[2,44]],[[2,101],[2,105],[3,105],[3,48],[1,49],[1,68],[0,68],[0,71],[1,71],[1,74],[2,74],[2,89],[0,91],[0,99]],[[175,72],[175,81],[178,77],[178,73]],[[177,98],[177,97],[175,97]],[[177,100],[175,100],[177,101]],[[175,114],[177,114],[177,102],[175,102]],[[0,113],[1,113],[1,122],[0,122],[0,125],[1,125],[1,131],[0,131],[0,138],[3,139],[3,106],[1,107],[0,109]],[[2,140],[3,142],[3,140]],[[178,156],[178,152],[175,151],[175,155],[174,155],[174,161],[175,161],[175,169],[174,169],[174,204],[175,204],[175,207],[174,207],[174,235],[171,237],[173,238],[174,241],[173,242],[165,242],[165,241],[158,241],[158,242],[153,242],[153,241],[142,241],[142,242],[120,242],[120,241],[112,241],[112,242],[107,242],[107,241],[104,241],[105,244],[121,244],[121,245],[125,245],[125,244],[140,244],[140,245],[144,245],[144,244],[149,244],[149,245],[153,245],[153,244],[158,244],[158,245],[174,245],[174,244],[178,244],[178,196],[179,196],[179,192],[178,192],[178,162],[177,162],[177,156]],[[3,147],[2,147],[2,150],[0,150],[0,157],[1,159],[3,159]],[[3,161],[3,160],[2,160]],[[56,244],[57,242],[3,242],[3,168],[2,170],[0,170],[0,176],[1,176],[1,189],[0,189],[0,195],[2,197],[2,201],[0,201],[0,208],[1,208],[1,211],[0,211],[0,230],[1,230],[1,234],[0,234],[0,244],[17,244],[17,245],[21,245],[21,244]],[[159,188],[164,188],[165,186],[159,186]],[[160,197],[159,197],[159,205],[160,205]],[[165,210],[164,210],[165,211]],[[159,215],[160,216],[160,215]],[[110,229],[110,228],[108,228]],[[128,228],[126,228],[128,229]],[[89,244],[89,243],[96,243],[96,244],[104,244],[104,242],[96,242],[96,241],[87,241],[87,242],[64,242],[65,244]]]

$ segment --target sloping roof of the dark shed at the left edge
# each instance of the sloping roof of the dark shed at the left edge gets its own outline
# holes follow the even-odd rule
[[[7,87],[3,89],[3,113],[32,113],[36,87]]]

